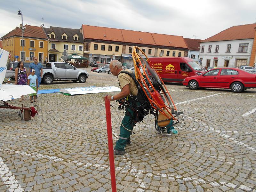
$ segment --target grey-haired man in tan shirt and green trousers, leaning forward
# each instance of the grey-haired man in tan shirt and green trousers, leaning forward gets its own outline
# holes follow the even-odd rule
[[[132,77],[125,73],[120,73],[122,68],[122,63],[118,60],[112,60],[109,65],[110,71],[114,76],[117,76],[117,79],[119,81],[119,86],[121,88],[121,92],[116,95],[107,95],[103,97],[103,99],[109,99],[110,101],[113,100],[119,100],[122,98],[125,98],[129,95],[132,95],[132,97],[136,97],[138,95],[138,88],[132,79]],[[125,71],[128,71],[132,73],[130,70],[125,69]],[[131,97],[128,97],[128,103],[132,107],[134,107],[134,103],[131,101]],[[140,105],[141,103],[137,102],[136,104]],[[114,155],[122,155],[125,153],[124,147],[126,144],[130,144],[130,135],[132,132],[126,130],[125,128],[132,131],[133,126],[135,124],[134,119],[136,118],[136,114],[134,113],[131,108],[125,109],[125,115],[122,120],[122,124],[120,126],[120,134],[119,139],[116,141],[116,146],[114,148]],[[125,127],[125,128],[124,128]]]

